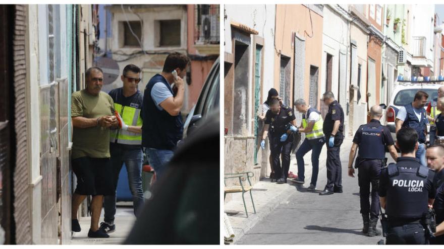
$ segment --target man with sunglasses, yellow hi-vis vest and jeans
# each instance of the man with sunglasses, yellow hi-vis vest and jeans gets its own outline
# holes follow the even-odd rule
[[[123,163],[126,165],[128,182],[133,195],[134,215],[143,206],[142,190],[142,93],[137,85],[140,82],[140,68],[129,64],[123,69],[121,79],[123,87],[109,92],[113,98],[119,127],[110,131],[109,152],[111,154],[112,174],[114,182],[113,195],[104,197],[104,222],[100,229],[114,232],[114,215],[116,214],[116,188]]]

